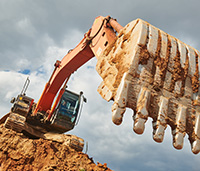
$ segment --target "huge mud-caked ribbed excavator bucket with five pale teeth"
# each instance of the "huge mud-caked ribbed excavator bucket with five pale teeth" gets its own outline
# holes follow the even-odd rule
[[[98,88],[113,100],[112,120],[119,125],[133,109],[133,130],[142,134],[153,119],[153,139],[162,142],[172,129],[173,146],[182,149],[188,134],[192,152],[200,151],[200,53],[177,38],[137,19],[98,58],[103,82]]]

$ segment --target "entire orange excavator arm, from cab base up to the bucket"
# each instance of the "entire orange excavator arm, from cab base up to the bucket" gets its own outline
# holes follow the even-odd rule
[[[96,56],[98,58],[101,52],[115,41],[115,30],[119,32],[122,28],[123,27],[120,26],[116,20],[109,16],[97,17],[92,28],[84,35],[81,42],[61,61],[56,61],[55,69],[48,83],[45,85],[33,115],[36,115],[37,112],[48,113],[48,119],[50,119],[64,92],[65,85],[68,81],[67,78],[69,78],[74,71],[92,57]],[[63,83],[64,87],[61,89],[54,105],[52,106],[53,100]]]

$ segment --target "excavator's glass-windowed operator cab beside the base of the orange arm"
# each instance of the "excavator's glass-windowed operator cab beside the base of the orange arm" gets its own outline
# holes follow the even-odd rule
[[[65,90],[50,120],[52,126],[61,133],[72,130],[81,113],[83,101],[86,102],[83,92],[76,94]]]

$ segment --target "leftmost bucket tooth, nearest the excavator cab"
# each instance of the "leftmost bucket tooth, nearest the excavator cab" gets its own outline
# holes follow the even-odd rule
[[[127,73],[124,73],[119,88],[117,90],[115,101],[112,105],[112,121],[116,125],[122,123],[123,114],[126,111],[129,81],[126,80]]]

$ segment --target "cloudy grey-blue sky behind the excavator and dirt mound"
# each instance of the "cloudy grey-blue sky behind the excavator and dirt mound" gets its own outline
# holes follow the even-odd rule
[[[27,76],[27,95],[37,102],[55,61],[80,42],[97,16],[110,15],[122,26],[141,18],[200,50],[199,6],[198,0],[0,0],[0,116],[9,112],[10,99],[20,93]],[[88,101],[69,132],[88,142],[88,155],[116,171],[199,170],[200,156],[191,152],[187,136],[183,149],[176,150],[168,127],[158,144],[152,139],[151,119],[144,134],[137,135],[131,110],[122,125],[112,123],[112,102],[97,92],[101,77],[95,65],[93,58],[68,84]]]

